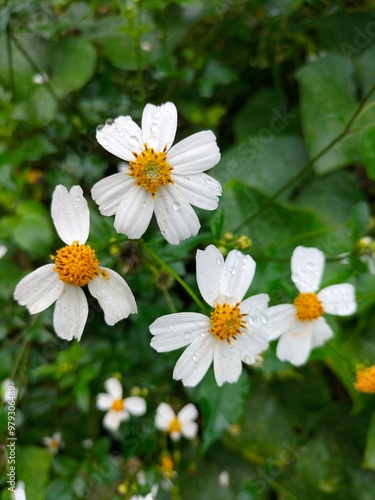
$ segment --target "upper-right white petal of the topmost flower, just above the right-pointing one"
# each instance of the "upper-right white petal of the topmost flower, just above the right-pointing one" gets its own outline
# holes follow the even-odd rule
[[[167,161],[179,175],[198,174],[212,168],[220,161],[215,134],[205,130],[183,139],[168,151]]]

